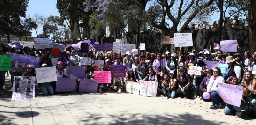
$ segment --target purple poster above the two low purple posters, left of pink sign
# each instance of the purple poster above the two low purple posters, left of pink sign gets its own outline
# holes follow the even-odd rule
[[[67,67],[67,74],[68,75],[74,75],[78,79],[84,79],[85,77],[85,71],[84,66],[70,66]]]

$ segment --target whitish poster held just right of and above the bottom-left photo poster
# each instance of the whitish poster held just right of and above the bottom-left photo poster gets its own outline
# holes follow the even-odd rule
[[[36,68],[37,83],[57,81],[56,67]]]

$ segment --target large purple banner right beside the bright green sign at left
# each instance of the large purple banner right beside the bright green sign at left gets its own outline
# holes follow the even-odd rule
[[[12,53],[12,72],[24,72],[28,64],[33,64],[36,68],[39,67],[39,58],[22,54]]]

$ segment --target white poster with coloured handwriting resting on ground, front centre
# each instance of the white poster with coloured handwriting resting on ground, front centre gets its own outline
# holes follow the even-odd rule
[[[157,96],[158,82],[155,81],[140,81],[141,96]]]

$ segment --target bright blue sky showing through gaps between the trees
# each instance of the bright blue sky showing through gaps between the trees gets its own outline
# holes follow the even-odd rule
[[[29,4],[27,7],[27,17],[33,17],[35,14],[43,15],[45,18],[47,18],[50,15],[54,16],[60,16],[58,9],[56,8],[57,0],[29,0]],[[146,7],[146,9],[151,5],[152,3],[149,3]],[[214,21],[218,21],[219,19],[219,13],[214,13],[211,15],[211,19],[209,20],[209,24],[212,24]],[[169,24],[169,26],[172,26],[173,23],[170,20],[166,20],[166,22]],[[192,21],[195,22],[195,21]],[[183,22],[184,23],[184,22]],[[182,22],[181,22],[182,24]],[[178,26],[178,29],[180,29],[181,26]],[[38,34],[42,33],[42,26],[39,26],[38,28]],[[32,31],[32,37],[36,37],[35,30]]]

